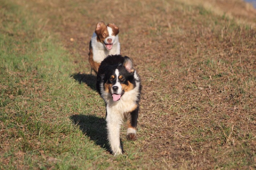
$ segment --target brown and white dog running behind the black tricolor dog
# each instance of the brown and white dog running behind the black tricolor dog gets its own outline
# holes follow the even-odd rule
[[[105,57],[120,54],[118,33],[119,28],[115,24],[105,25],[103,21],[97,23],[89,47],[89,63],[96,73]]]

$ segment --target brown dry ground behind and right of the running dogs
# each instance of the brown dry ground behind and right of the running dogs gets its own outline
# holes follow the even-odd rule
[[[137,147],[145,164],[255,167],[255,30],[173,1],[47,0],[27,7],[42,16],[43,29],[59,35],[77,72],[90,72],[96,23],[120,27],[121,53],[142,78]]]

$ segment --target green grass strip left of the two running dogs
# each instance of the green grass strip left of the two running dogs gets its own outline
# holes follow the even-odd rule
[[[19,6],[1,3],[0,15],[0,168],[85,168],[107,158],[69,119],[91,120],[97,105],[88,104],[103,103],[69,78],[68,52]]]

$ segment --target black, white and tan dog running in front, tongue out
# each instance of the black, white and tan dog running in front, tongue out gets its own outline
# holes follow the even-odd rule
[[[106,104],[108,140],[114,155],[122,154],[120,126],[127,122],[128,140],[136,140],[140,101],[140,77],[132,60],[121,55],[109,55],[99,67],[97,91]]]

